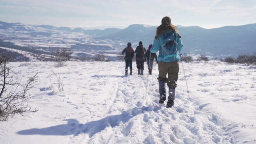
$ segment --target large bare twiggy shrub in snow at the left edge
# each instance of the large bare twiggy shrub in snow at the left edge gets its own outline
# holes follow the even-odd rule
[[[6,121],[14,114],[23,116],[24,112],[38,111],[37,109],[32,110],[28,106],[28,100],[34,97],[30,95],[28,90],[33,88],[38,81],[37,74],[30,77],[23,89],[18,91],[21,84],[13,81],[11,67],[8,67],[8,60],[10,60],[10,56],[0,54],[0,121]]]

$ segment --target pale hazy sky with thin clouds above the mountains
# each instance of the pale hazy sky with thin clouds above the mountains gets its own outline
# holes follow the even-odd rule
[[[256,23],[256,0],[0,0],[0,21],[67,27],[158,26],[217,28]]]

